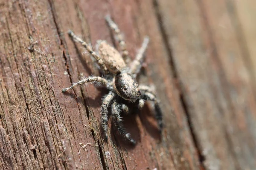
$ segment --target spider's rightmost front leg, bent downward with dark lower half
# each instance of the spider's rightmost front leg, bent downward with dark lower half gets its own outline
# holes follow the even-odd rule
[[[157,123],[158,123],[158,126],[160,127],[160,130],[162,130],[162,128],[163,128],[163,113],[160,109],[159,101],[157,100],[156,96],[149,92],[145,92],[141,95],[141,98],[144,100],[150,100],[150,101],[154,102],[154,109],[156,111]]]

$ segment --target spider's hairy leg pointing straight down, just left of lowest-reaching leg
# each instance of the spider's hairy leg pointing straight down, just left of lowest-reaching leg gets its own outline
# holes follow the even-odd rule
[[[113,92],[109,92],[107,96],[103,99],[102,108],[101,108],[101,122],[102,129],[105,136],[105,139],[108,140],[108,108],[114,98]]]

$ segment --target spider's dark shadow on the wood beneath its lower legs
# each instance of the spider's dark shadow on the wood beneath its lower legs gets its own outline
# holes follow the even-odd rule
[[[99,108],[102,105],[102,96],[107,94],[107,90],[103,87],[97,87],[97,89],[99,89],[100,93],[95,98],[91,98],[88,96],[76,96],[73,92],[70,92],[70,91],[64,93],[64,95],[71,96],[72,98],[76,98],[77,102],[81,103],[82,105],[85,104],[85,100],[86,100],[87,105],[90,105],[90,107]],[[81,93],[83,93],[83,91],[81,91]],[[140,129],[138,127],[138,123],[136,120],[137,116],[139,116],[139,119],[140,119],[144,129],[147,131],[147,133],[152,138],[157,139],[158,141],[161,140],[161,133],[157,127],[156,119],[153,116],[154,112],[150,108],[151,107],[149,107],[148,104],[145,104],[145,106],[143,107],[143,109],[141,111],[135,109],[134,111],[132,111],[129,114],[121,113],[122,120],[123,120],[123,122],[122,122],[123,126],[125,127],[127,132],[130,133],[131,138],[133,138],[137,142],[137,144],[141,141]],[[109,116],[109,122],[111,122],[111,121],[112,121],[111,116]],[[117,147],[122,147],[127,150],[134,149],[136,144],[135,145],[131,144],[129,141],[125,140],[118,133],[118,131],[114,127],[113,123],[110,123],[110,124],[111,124],[111,139],[114,139],[114,140],[112,140],[113,143]],[[102,139],[104,139],[102,132],[103,132],[102,126],[100,125],[100,134],[102,136]],[[109,139],[109,142],[111,139]],[[106,140],[104,140],[104,142],[106,142]]]

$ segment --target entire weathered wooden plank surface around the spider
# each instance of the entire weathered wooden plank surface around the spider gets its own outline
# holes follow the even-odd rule
[[[253,0],[0,0],[0,169],[253,170],[256,167],[256,3]],[[150,37],[140,83],[154,84],[163,134],[148,105],[125,116],[137,145],[99,111],[107,93],[69,87],[99,75],[68,29],[116,45],[111,14],[134,58]],[[34,45],[32,45],[34,44]],[[28,49],[30,48],[30,50]]]

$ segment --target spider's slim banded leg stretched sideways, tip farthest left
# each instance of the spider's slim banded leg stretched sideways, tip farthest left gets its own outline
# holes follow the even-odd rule
[[[87,78],[85,78],[85,79],[82,79],[82,80],[80,80],[79,82],[76,82],[76,83],[74,83],[72,86],[70,86],[69,88],[64,88],[64,89],[62,89],[62,92],[64,93],[65,91],[68,91],[68,90],[71,90],[71,89],[73,89],[73,88],[76,88],[76,86],[78,86],[78,85],[83,85],[83,84],[85,84],[85,83],[87,83],[87,82],[99,82],[100,84],[102,84],[102,85],[105,85],[105,86],[109,86],[109,82],[108,82],[108,80],[107,79],[104,79],[104,78],[102,78],[102,77],[87,77]]]

